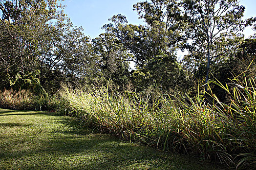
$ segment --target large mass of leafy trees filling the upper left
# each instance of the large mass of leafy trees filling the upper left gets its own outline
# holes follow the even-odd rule
[[[90,70],[89,38],[57,0],[0,1],[0,88],[54,93]],[[91,61],[93,62],[93,61]]]

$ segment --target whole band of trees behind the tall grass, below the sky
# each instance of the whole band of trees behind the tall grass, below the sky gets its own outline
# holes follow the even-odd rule
[[[90,39],[57,0],[1,0],[0,89],[54,94],[61,84],[108,83],[117,92],[194,95],[209,79],[239,75],[256,54],[255,36],[241,34],[256,18],[242,20],[245,8],[237,0],[152,0],[133,7],[145,25],[118,14],[103,26],[105,34]],[[177,51],[187,51],[181,61]],[[250,70],[255,73],[255,62]]]

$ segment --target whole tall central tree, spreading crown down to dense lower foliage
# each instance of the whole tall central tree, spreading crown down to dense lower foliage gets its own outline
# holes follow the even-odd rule
[[[104,28],[113,34],[132,54],[136,64],[133,73],[139,90],[149,86],[168,90],[177,83],[182,73],[175,52],[182,45],[181,11],[175,0],[151,0],[134,6],[146,25],[128,24],[125,16],[113,16]],[[185,77],[185,75],[182,75]]]

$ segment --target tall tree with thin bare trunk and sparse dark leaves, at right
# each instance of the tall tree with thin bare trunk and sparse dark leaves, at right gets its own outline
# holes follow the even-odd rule
[[[242,35],[245,27],[252,25],[256,18],[243,20],[245,7],[239,0],[183,0],[184,21],[188,24],[185,34],[192,43],[187,46],[190,57],[205,65],[209,80],[211,63],[220,62],[230,51],[221,51],[221,42]],[[207,86],[205,88],[207,90]]]

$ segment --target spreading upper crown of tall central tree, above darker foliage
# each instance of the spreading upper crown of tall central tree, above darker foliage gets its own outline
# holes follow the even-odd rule
[[[127,47],[139,66],[160,53],[173,53],[181,42],[183,31],[182,22],[178,22],[181,19],[178,3],[175,0],[151,0],[138,2],[133,7],[146,25],[128,24],[126,17],[119,14],[109,19],[112,23],[103,26],[106,32]]]

